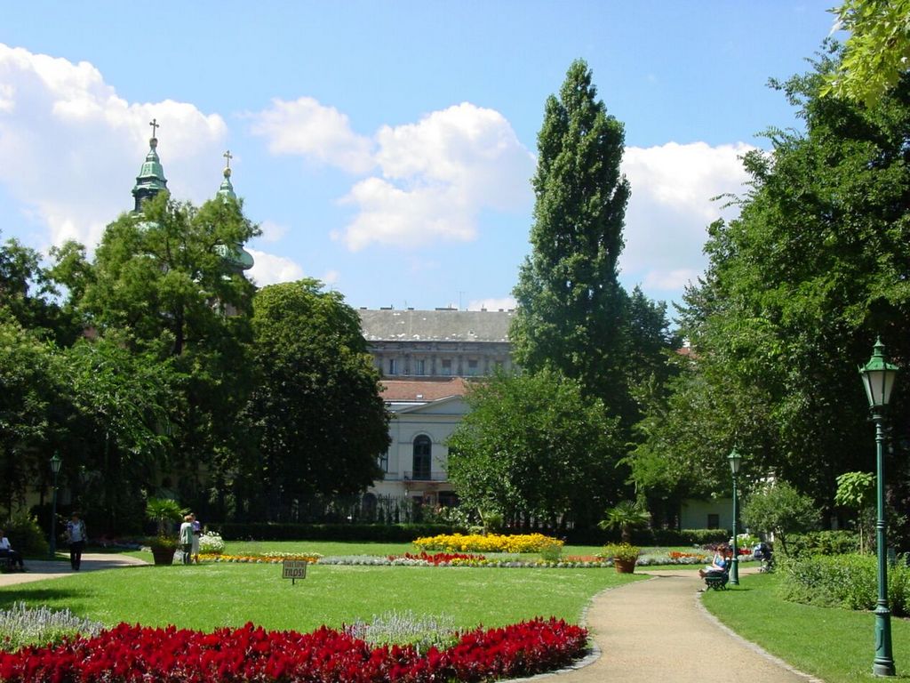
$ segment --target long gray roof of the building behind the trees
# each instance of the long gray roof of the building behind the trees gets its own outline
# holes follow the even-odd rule
[[[368,342],[509,342],[515,311],[360,309]]]

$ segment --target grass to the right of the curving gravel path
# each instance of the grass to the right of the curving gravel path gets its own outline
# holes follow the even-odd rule
[[[738,634],[825,683],[881,680],[872,675],[875,616],[786,602],[779,575],[740,577],[740,586],[710,591],[704,606]],[[910,619],[891,619],[897,679],[910,680]]]

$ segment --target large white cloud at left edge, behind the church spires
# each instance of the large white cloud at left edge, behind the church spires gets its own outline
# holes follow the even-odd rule
[[[74,239],[92,250],[104,226],[132,209],[152,118],[165,175],[179,178],[168,187],[194,200],[214,195],[221,117],[173,100],[130,103],[88,62],[0,44],[0,183],[40,226],[32,246]]]

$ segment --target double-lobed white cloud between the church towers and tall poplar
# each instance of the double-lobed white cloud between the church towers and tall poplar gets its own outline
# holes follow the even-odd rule
[[[481,211],[531,205],[533,156],[493,109],[465,102],[414,124],[380,127],[372,139],[310,97],[273,100],[253,118],[253,132],[268,138],[275,154],[298,154],[355,174],[376,168],[340,199],[356,215],[331,235],[352,251],[374,243],[414,248],[474,240]]]

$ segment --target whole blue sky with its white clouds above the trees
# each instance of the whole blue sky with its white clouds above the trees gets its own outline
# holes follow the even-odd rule
[[[677,301],[738,156],[798,126],[766,87],[833,15],[806,2],[6,4],[0,231],[92,250],[157,118],[179,199],[233,182],[259,284],[316,277],[355,307],[511,305],[546,97],[587,60],[626,131],[622,282]]]

